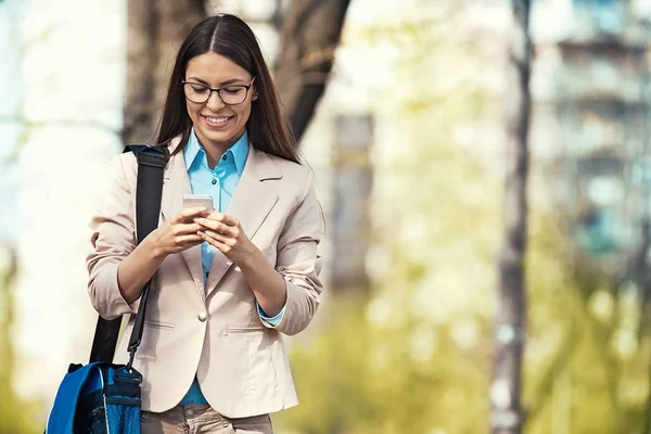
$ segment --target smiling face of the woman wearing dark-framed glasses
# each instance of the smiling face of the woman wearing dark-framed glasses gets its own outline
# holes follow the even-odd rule
[[[215,52],[207,52],[192,58],[188,62],[184,81],[217,89],[250,85],[253,76],[246,69],[230,59]],[[201,90],[200,86],[194,88]],[[227,93],[229,91],[237,92],[237,89],[225,89],[222,95],[229,101]],[[242,89],[240,88],[240,90]],[[195,103],[186,99],[194,131],[204,148],[210,146],[222,153],[233,145],[244,133],[246,122],[251,116],[252,99],[256,95],[254,87],[251,87],[245,100],[234,105],[225,104],[217,92],[212,92],[210,98],[204,103]]]

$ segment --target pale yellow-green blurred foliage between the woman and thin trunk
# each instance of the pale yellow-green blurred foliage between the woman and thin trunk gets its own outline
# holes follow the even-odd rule
[[[421,50],[438,40],[427,29],[418,35]],[[473,65],[442,43],[437,62]],[[399,142],[380,140],[374,150],[382,175],[371,203],[372,296],[328,298],[321,333],[294,346],[302,404],[275,418],[282,433],[462,434],[487,425],[501,183],[455,139],[486,95],[464,80],[454,97],[437,90],[432,84],[449,72],[417,48],[403,52],[412,68],[400,68],[395,85],[418,88],[383,100]]]

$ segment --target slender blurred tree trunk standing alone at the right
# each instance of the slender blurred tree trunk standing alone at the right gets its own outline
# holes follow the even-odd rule
[[[507,177],[505,189],[505,241],[500,250],[499,306],[495,330],[496,354],[490,384],[493,434],[521,433],[522,356],[526,326],[524,256],[527,237],[526,186],[531,95],[529,0],[512,0],[513,18],[507,74],[506,101]]]

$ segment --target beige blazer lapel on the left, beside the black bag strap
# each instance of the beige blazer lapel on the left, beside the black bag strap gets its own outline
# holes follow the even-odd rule
[[[170,144],[169,151],[174,152],[179,142],[180,138],[175,139]],[[183,153],[179,152],[169,158],[163,175],[161,213],[163,214],[164,220],[171,219],[181,213],[183,209],[183,194],[190,193],[192,193],[192,187],[190,186],[188,169],[186,168]],[[195,245],[194,247],[181,252],[181,256],[186,260],[186,264],[194,278],[196,290],[203,299],[204,278],[201,265],[201,245]]]

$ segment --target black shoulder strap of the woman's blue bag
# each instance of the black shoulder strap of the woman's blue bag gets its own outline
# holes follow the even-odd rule
[[[138,181],[136,187],[136,234],[141,243],[151,231],[158,227],[161,213],[161,199],[163,196],[163,171],[169,151],[166,146],[129,145],[124,152],[132,152],[138,161]],[[129,340],[129,363],[131,368],[138,346],[142,341],[144,328],[144,312],[152,280],[144,285],[140,296],[140,306],[133,323],[133,331]],[[90,350],[90,362],[113,362],[113,355],[117,345],[122,317],[106,320],[98,317],[95,333]]]

